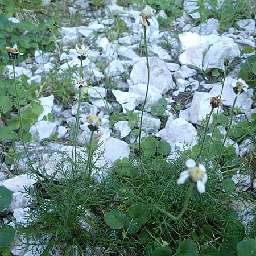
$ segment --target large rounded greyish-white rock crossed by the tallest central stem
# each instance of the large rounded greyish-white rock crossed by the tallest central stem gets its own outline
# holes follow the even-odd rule
[[[161,94],[168,92],[170,89],[174,89],[171,72],[166,63],[158,59],[158,57],[150,57],[148,59],[150,66],[150,87],[158,89]],[[142,57],[134,64],[130,77],[134,84],[146,84],[146,57]]]

